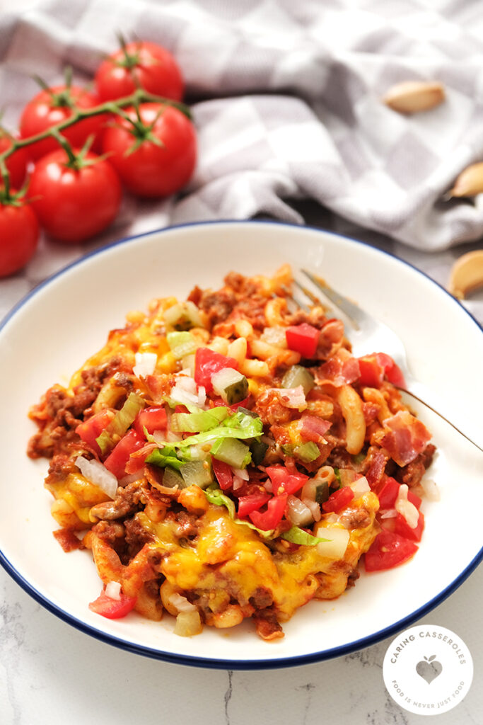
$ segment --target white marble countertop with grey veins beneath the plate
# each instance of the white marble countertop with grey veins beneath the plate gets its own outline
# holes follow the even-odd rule
[[[460,254],[481,244],[424,254],[355,228],[311,204],[299,204],[311,225],[363,239],[411,262],[443,286]],[[123,236],[117,233],[117,236]],[[105,240],[103,239],[103,242]],[[0,317],[35,283],[83,253],[43,241],[34,265],[0,281]],[[483,297],[467,304],[483,322]],[[445,626],[468,645],[474,684],[441,725],[482,723],[483,568],[421,624]],[[415,623],[419,624],[419,623]],[[337,723],[416,725],[421,716],[393,702],[382,679],[391,637],[365,650],[322,663],[266,671],[219,671],[172,665],[118,650],[65,624],[23,592],[0,568],[0,723],[104,725],[147,720],[203,725]]]

